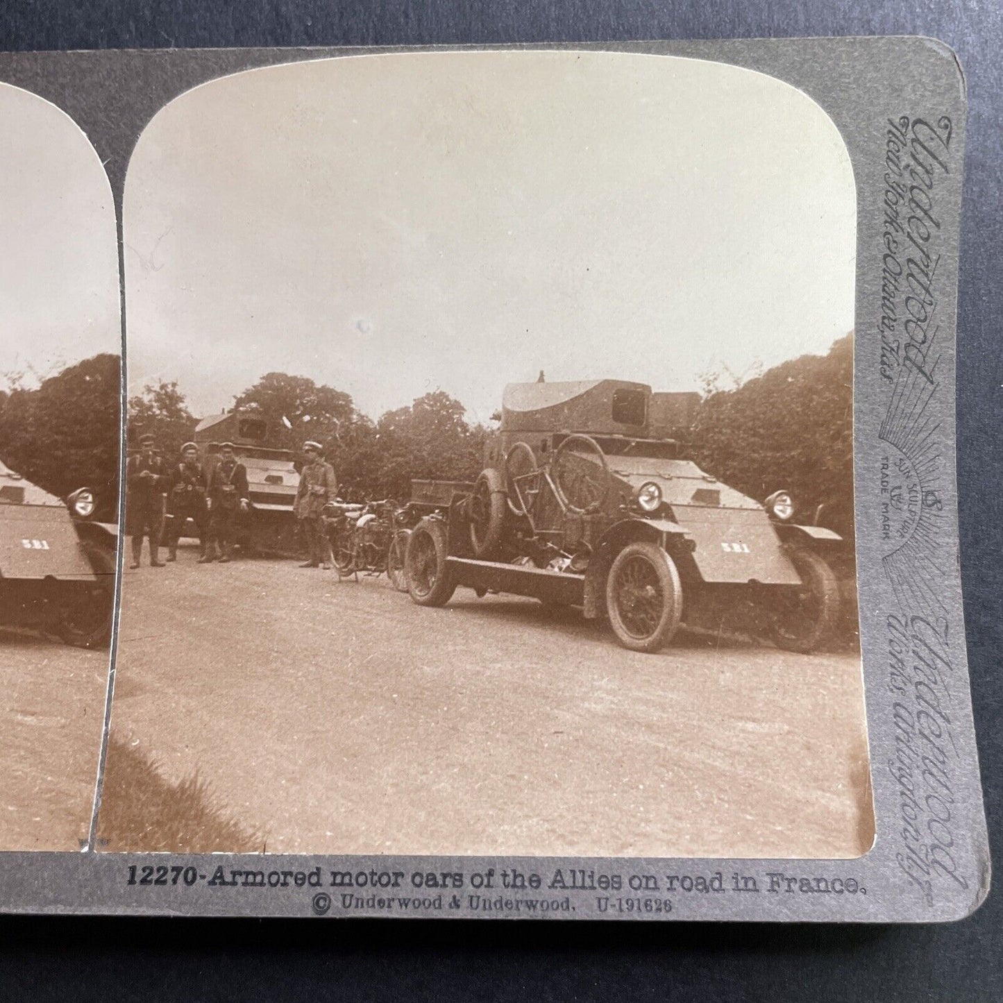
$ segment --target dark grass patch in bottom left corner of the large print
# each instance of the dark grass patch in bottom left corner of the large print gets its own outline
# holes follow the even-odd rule
[[[127,740],[110,737],[104,767],[97,847],[108,853],[259,853],[265,838],[214,804],[198,771],[178,783]]]

